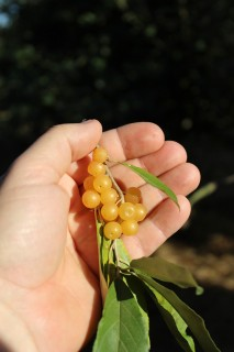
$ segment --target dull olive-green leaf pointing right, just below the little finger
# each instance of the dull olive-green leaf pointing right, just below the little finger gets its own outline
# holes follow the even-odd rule
[[[172,264],[159,256],[142,257],[130,263],[133,270],[138,270],[156,279],[171,283],[181,288],[194,287],[197,295],[203,289],[198,285],[192,274],[180,265]]]

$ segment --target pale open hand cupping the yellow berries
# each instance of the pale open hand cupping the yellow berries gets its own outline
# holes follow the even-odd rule
[[[200,182],[185,148],[142,122],[102,133],[97,120],[58,125],[11,166],[0,188],[0,342],[11,351],[77,352],[101,317],[93,212],[80,189],[97,144],[115,161],[148,169],[178,195],[171,200],[123,166],[123,187],[141,187],[149,215],[124,238],[134,258],[151,255],[190,215],[186,198]]]

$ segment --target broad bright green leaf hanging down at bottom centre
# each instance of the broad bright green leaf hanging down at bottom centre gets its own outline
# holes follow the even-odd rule
[[[115,279],[107,295],[92,352],[148,352],[145,318],[130,287]]]

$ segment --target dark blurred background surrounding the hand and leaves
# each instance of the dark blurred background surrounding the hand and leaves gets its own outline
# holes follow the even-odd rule
[[[234,351],[233,44],[233,0],[0,0],[0,173],[57,123],[159,124],[200,168],[200,189],[215,183],[159,253],[205,287],[182,295],[225,352]],[[178,351],[163,337],[158,352]]]

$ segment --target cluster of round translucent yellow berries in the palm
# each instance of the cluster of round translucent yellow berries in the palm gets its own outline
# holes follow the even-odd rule
[[[124,199],[120,197],[107,173],[107,150],[94,148],[88,165],[89,176],[83,180],[82,204],[89,209],[100,209],[104,237],[115,240],[122,234],[136,234],[138,222],[145,219],[147,210],[141,204],[141,190],[136,187],[126,189]]]

